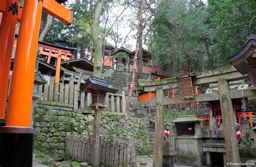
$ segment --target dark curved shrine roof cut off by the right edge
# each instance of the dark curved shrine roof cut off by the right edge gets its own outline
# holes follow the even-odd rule
[[[251,34],[247,37],[246,44],[241,50],[228,58],[228,61],[235,67],[241,74],[247,74],[248,68],[253,68],[256,65],[256,34]],[[252,66],[252,67],[251,67]],[[246,68],[247,67],[247,68]]]

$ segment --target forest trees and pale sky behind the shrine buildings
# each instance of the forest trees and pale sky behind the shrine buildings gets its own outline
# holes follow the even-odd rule
[[[107,42],[135,50],[140,4],[142,0],[103,1],[99,24],[103,50]],[[66,26],[44,13],[40,40],[77,47],[77,57],[90,59],[96,0],[73,0],[64,5],[73,12],[73,24]],[[256,3],[146,0],[140,26],[139,54],[142,46],[152,52],[154,66],[170,69],[172,76],[183,68],[201,72],[228,65],[227,58],[242,48],[246,37],[255,33]]]

